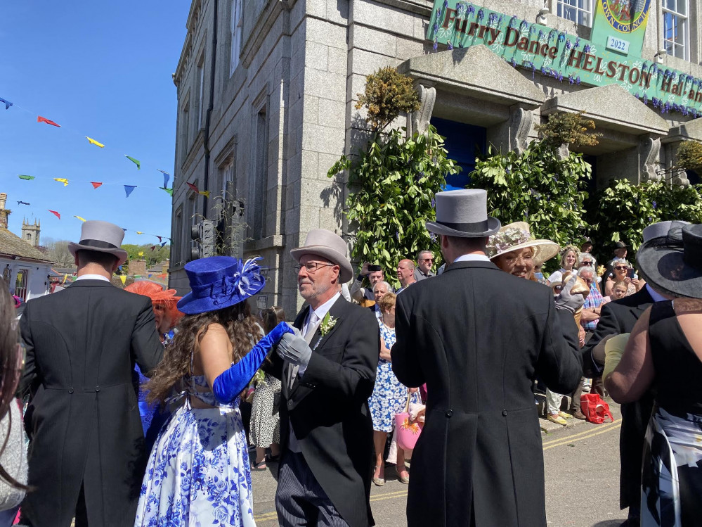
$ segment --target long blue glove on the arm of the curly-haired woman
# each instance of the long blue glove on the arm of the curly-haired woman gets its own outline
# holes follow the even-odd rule
[[[261,338],[254,348],[242,357],[242,360],[236,364],[232,364],[229,369],[222,372],[214,379],[212,392],[214,398],[222,405],[229,405],[241,391],[246,388],[247,384],[256,374],[256,370],[261,367],[266,355],[271,351],[274,345],[280,341],[280,338],[286,333],[294,334],[290,326],[285,322],[280,322],[278,326],[273,328],[273,331]]]

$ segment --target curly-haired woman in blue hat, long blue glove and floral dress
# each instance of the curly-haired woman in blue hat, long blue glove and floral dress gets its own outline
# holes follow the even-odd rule
[[[151,451],[136,526],[255,526],[238,395],[273,345],[292,333],[279,324],[261,338],[246,300],[265,285],[257,260],[214,256],[186,264],[192,291],[178,302],[186,316],[147,385],[153,401],[179,385],[185,403]]]

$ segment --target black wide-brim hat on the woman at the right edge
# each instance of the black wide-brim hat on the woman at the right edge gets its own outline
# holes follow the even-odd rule
[[[667,236],[651,239],[639,248],[636,262],[656,291],[702,298],[702,225],[672,222]]]

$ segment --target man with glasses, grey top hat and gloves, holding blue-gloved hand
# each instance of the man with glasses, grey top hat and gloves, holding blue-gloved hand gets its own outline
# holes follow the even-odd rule
[[[297,283],[307,305],[294,322],[299,331],[281,339],[270,369],[282,381],[278,523],[372,526],[368,398],[380,354],[378,323],[339,294],[339,284],[353,276],[339,236],[314,229],[290,254],[300,264]]]

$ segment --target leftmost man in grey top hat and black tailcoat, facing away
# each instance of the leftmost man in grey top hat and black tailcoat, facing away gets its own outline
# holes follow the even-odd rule
[[[148,297],[110,283],[126,260],[124,231],[84,222],[69,243],[78,278],[27,302],[21,388],[31,394],[29,484],[22,514],[34,527],[131,526],[143,478],[144,434],[134,362],[150,372],[163,345]]]

